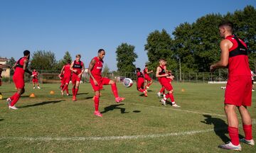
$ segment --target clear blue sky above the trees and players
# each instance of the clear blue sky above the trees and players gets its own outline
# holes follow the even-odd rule
[[[135,46],[134,64],[143,69],[149,33],[171,34],[181,23],[247,5],[256,7],[256,0],[0,0],[0,57],[18,60],[23,50],[46,50],[60,60],[68,51],[73,60],[82,55],[88,67],[103,48],[105,64],[117,70],[115,51],[126,42]]]

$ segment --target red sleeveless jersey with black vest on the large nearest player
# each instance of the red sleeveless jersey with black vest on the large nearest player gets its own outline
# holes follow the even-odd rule
[[[233,46],[229,49],[228,75],[250,76],[247,45],[235,35],[230,35],[226,39],[233,43]]]

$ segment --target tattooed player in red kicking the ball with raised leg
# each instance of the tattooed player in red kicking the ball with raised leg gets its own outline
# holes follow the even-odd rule
[[[100,90],[102,90],[103,85],[111,85],[112,92],[117,103],[124,101],[124,98],[118,96],[117,85],[113,80],[108,79],[107,77],[102,77],[102,67],[103,67],[103,58],[105,57],[105,50],[98,50],[97,57],[94,57],[88,68],[88,73],[90,74],[90,84],[92,89],[95,91],[94,102],[95,102],[95,112],[94,114],[102,117],[102,114],[99,111],[100,103]]]

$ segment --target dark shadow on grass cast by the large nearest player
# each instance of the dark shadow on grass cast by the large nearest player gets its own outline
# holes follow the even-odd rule
[[[229,142],[230,139],[225,135],[228,135],[228,125],[225,123],[224,120],[220,118],[212,118],[211,115],[203,115],[206,117],[204,121],[201,121],[201,123],[205,123],[208,125],[214,125],[214,132],[223,142]],[[242,137],[242,135],[239,135],[239,137]]]

